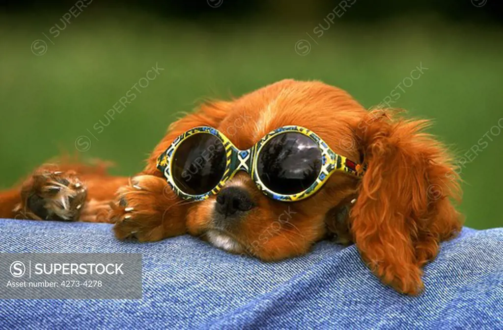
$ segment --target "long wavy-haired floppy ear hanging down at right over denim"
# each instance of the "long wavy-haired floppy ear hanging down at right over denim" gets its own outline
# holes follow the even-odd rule
[[[451,200],[459,197],[459,177],[447,149],[422,132],[427,126],[374,110],[354,128],[367,170],[351,231],[371,270],[407,294],[421,292],[421,267],[461,229]]]

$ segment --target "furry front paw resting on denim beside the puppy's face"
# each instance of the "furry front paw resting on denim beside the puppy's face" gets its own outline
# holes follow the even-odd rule
[[[115,223],[114,233],[119,240],[154,242],[164,238],[165,187],[166,181],[162,178],[140,175],[119,188],[109,214],[109,222]]]

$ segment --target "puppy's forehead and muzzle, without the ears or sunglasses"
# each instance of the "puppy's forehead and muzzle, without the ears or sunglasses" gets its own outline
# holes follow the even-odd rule
[[[334,152],[361,158],[353,128],[366,111],[341,89],[285,80],[218,106],[227,115],[216,129],[240,150],[279,127],[298,125],[316,133]],[[266,196],[247,173],[238,172],[217,195],[191,207],[188,229],[193,235],[206,234],[220,248],[264,260],[299,255],[325,237],[327,223],[331,226],[336,219],[332,209],[351,203],[359,181],[334,173],[313,196],[284,202]]]

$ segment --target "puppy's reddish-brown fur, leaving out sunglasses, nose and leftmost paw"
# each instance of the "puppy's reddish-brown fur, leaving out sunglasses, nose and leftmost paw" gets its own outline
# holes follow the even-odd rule
[[[246,119],[246,120],[243,120]],[[461,229],[461,217],[451,199],[460,194],[459,178],[446,148],[422,133],[426,121],[403,120],[387,110],[368,112],[345,91],[321,82],[283,80],[232,101],[202,105],[170,126],[154,148],[142,173],[125,178],[104,173],[82,174],[88,200],[112,200],[100,210],[87,205],[95,221],[116,223],[119,239],[157,241],[185,232],[205,236],[216,229],[215,197],[197,203],[179,199],[156,170],[155,161],[180,134],[196,126],[212,126],[240,149],[247,149],[266,133],[285,125],[307,127],[332,150],[367,164],[363,179],[336,173],[314,196],[285,203],[272,200],[239,173],[239,184],[257,207],[225,231],[239,243],[235,253],[273,261],[309,251],[314,242],[337,228],[355,241],[362,258],[386,284],[400,292],[421,291],[421,268],[435,258],[439,243]],[[239,127],[236,127],[239,126]],[[77,171],[78,173],[79,171]],[[0,216],[13,216],[19,190],[0,194]],[[19,195],[19,194],[18,194]],[[357,197],[354,204],[348,201]],[[330,214],[352,206],[344,224],[333,225]],[[89,213],[88,212],[88,213]],[[286,220],[285,220],[286,219]]]

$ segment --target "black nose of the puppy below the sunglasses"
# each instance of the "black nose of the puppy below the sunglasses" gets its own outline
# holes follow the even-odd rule
[[[250,195],[243,188],[224,188],[217,195],[216,210],[225,216],[232,215],[236,211],[249,211],[254,206]]]

